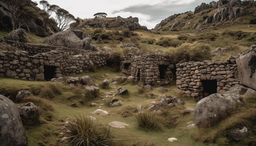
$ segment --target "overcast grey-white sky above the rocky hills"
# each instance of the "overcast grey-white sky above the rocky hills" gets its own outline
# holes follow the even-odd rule
[[[38,2],[38,7],[42,6]],[[98,12],[105,12],[108,17],[138,17],[139,24],[152,29],[164,18],[175,13],[194,11],[202,2],[212,0],[47,0],[66,9],[75,17],[93,18]]]

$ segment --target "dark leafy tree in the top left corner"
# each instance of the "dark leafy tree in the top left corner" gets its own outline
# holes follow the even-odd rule
[[[37,16],[36,10],[29,7],[29,4],[28,0],[0,0],[0,12],[9,17],[13,30]]]

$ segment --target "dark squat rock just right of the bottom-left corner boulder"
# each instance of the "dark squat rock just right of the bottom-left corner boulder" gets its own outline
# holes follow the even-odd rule
[[[23,125],[33,126],[40,123],[38,108],[32,102],[18,106],[18,111]]]

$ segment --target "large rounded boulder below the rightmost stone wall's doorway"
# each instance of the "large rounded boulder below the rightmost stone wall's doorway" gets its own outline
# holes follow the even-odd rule
[[[237,104],[246,104],[243,97],[235,94],[212,94],[200,100],[195,106],[195,124],[199,128],[208,128],[235,111]]]

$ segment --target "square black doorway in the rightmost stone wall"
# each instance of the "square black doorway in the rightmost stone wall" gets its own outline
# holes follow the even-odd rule
[[[217,81],[216,80],[203,80],[202,85],[204,88],[204,97],[217,93]]]

